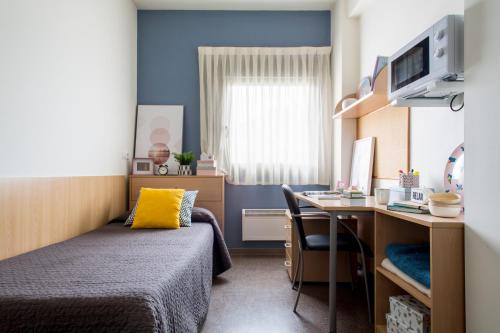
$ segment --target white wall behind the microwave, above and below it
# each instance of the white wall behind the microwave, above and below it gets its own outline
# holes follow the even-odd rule
[[[361,76],[372,74],[377,55],[390,56],[443,16],[463,11],[457,0],[372,1],[360,15]],[[413,108],[410,118],[411,167],[422,186],[442,189],[447,157],[464,141],[464,111]]]

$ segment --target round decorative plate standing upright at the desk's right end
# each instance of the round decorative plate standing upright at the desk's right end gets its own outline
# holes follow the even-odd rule
[[[464,204],[464,144],[459,145],[446,162],[444,170],[444,188],[446,192],[458,193]]]

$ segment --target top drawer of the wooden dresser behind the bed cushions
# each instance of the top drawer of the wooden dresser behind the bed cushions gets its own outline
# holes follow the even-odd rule
[[[222,177],[134,177],[130,183],[130,200],[137,200],[141,187],[149,187],[198,190],[197,201],[222,201],[224,200],[222,182]]]

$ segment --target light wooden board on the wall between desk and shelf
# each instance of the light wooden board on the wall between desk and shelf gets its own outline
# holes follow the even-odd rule
[[[373,178],[398,179],[398,170],[410,165],[409,108],[387,107],[358,119],[358,139],[373,136]]]

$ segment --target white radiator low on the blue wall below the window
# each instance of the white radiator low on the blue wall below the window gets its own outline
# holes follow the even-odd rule
[[[243,209],[243,241],[285,240],[286,209]]]

